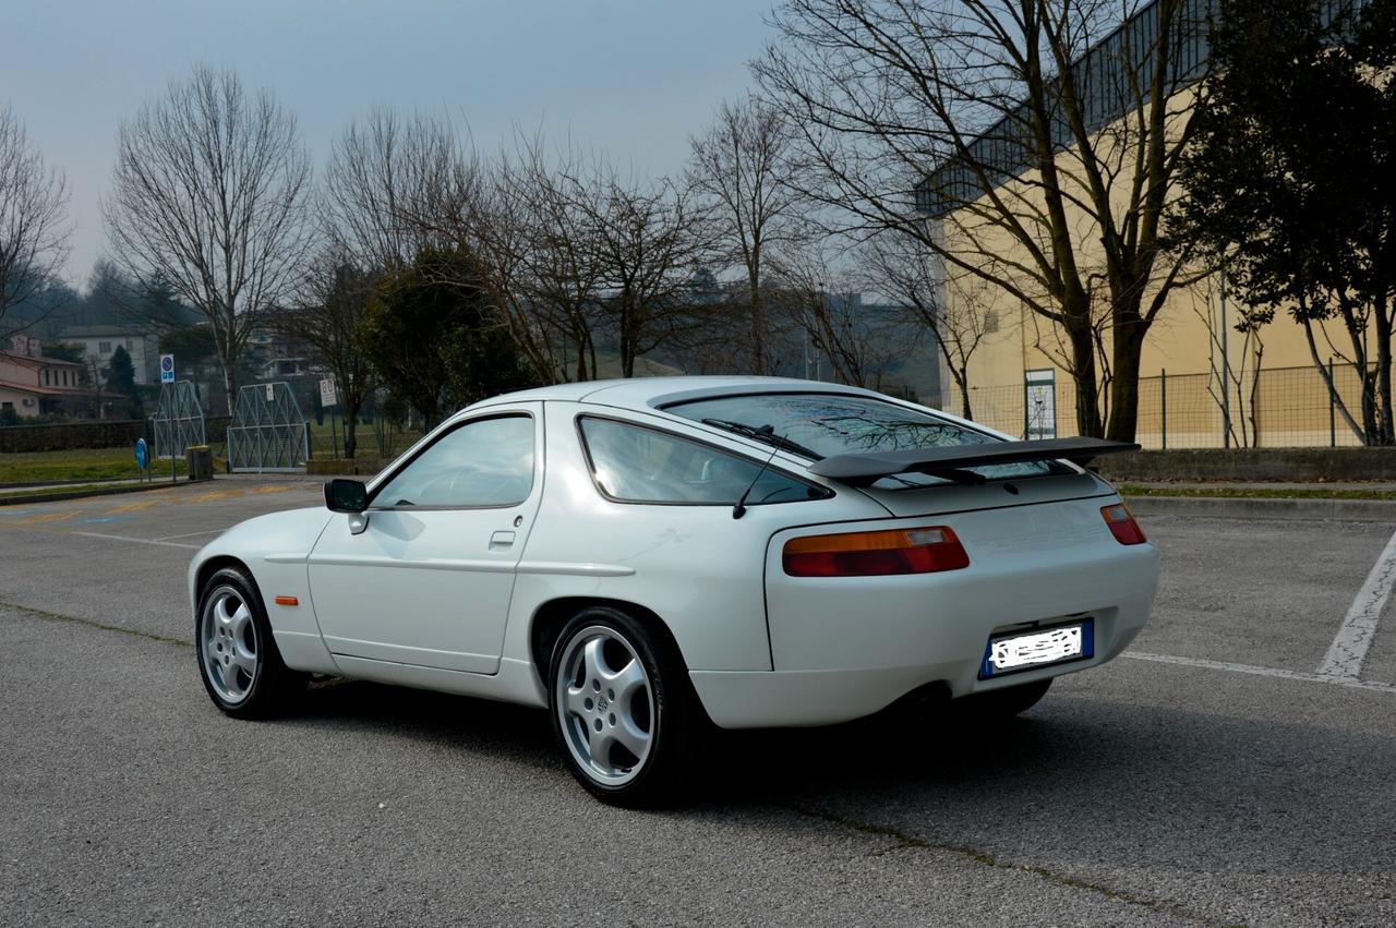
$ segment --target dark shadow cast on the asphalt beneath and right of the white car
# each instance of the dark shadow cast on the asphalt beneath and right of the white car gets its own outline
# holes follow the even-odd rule
[[[462,759],[483,752],[556,770],[572,788],[537,709],[334,681],[281,724],[409,737]],[[1012,848],[1087,868],[1342,868],[1389,882],[1396,864],[1396,741],[1337,727],[1060,694],[994,724],[917,713],[716,733],[708,756],[697,788],[656,814],[759,814],[771,826],[778,808],[792,830],[815,818],[885,835],[893,848]]]

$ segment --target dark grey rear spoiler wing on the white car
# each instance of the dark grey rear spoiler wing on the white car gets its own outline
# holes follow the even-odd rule
[[[981,445],[835,455],[812,463],[810,473],[852,487],[866,487],[898,473],[928,473],[959,483],[984,483],[983,476],[967,472],[967,469],[1025,461],[1069,461],[1075,465],[1086,465],[1100,455],[1118,455],[1127,451],[1139,451],[1139,445],[1127,441],[1106,441],[1104,438],[990,441]]]

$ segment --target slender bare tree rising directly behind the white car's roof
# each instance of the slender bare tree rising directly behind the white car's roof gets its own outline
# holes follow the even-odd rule
[[[751,373],[771,373],[762,276],[768,258],[799,237],[803,198],[782,183],[793,141],[785,116],[758,98],[725,102],[704,135],[690,140],[688,181],[712,204],[723,258],[745,276]]]

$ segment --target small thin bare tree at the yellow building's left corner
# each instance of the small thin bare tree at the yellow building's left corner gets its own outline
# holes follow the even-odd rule
[[[909,321],[930,332],[959,391],[960,414],[973,419],[969,361],[984,336],[998,331],[980,278],[946,278],[942,262],[916,239],[896,232],[874,236],[861,250],[867,286],[903,307]],[[944,402],[944,401],[942,401]]]

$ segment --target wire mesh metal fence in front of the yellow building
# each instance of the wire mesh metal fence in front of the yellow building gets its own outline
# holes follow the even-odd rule
[[[1351,364],[1335,364],[1333,380],[1347,410],[1361,423],[1362,385]],[[1332,402],[1314,367],[1247,371],[1223,399],[1216,374],[1139,378],[1135,440],[1145,448],[1349,448],[1361,445]],[[1055,373],[1050,399],[1040,382],[970,389],[976,421],[1020,437],[1071,437],[1076,428],[1076,385]],[[949,399],[949,398],[948,398]],[[948,412],[959,412],[949,399]]]

